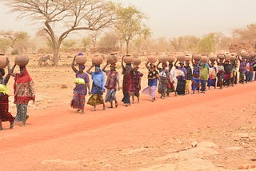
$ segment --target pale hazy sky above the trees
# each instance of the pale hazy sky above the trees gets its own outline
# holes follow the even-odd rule
[[[235,28],[256,23],[256,0],[115,0],[124,6],[136,6],[147,14],[147,25],[154,38],[182,35],[203,36],[222,32],[230,36]],[[18,20],[8,13],[0,0],[0,30],[22,30],[35,33],[29,19]]]

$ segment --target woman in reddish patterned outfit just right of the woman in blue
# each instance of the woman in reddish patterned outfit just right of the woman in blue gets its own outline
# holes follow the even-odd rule
[[[109,63],[106,63],[106,66],[108,66]],[[106,91],[106,97],[105,102],[110,102],[110,108],[113,108],[113,101],[115,102],[115,107],[118,107],[118,100],[115,96],[115,93],[117,89],[120,89],[119,85],[119,76],[118,72],[115,70],[116,66],[115,64],[110,65],[110,70],[106,70],[106,66],[102,68],[102,71],[106,73],[107,79],[106,79],[106,85],[105,88]]]

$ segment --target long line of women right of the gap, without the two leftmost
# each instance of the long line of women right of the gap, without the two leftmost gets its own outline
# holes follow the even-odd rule
[[[78,113],[84,113],[86,89],[90,95],[87,101],[88,105],[92,105],[92,111],[96,110],[96,105],[102,105],[102,109],[106,109],[105,102],[110,102],[110,108],[118,107],[116,91],[122,89],[122,102],[128,107],[134,103],[134,97],[140,101],[140,90],[143,74],[139,71],[138,66],[131,63],[124,63],[122,57],[122,88],[119,83],[119,74],[115,64],[106,63],[110,66],[110,70],[106,70],[103,66],[90,66],[84,72],[85,66],[78,66],[79,70],[74,69],[74,61],[71,65],[76,74],[76,79],[84,79],[82,83],[76,82],[74,88],[74,97],[71,107],[77,109]],[[161,65],[162,64],[162,65]],[[160,66],[161,65],[161,66]],[[142,93],[150,96],[151,101],[156,100],[156,93],[160,94],[160,98],[164,99],[170,96],[170,93],[177,95],[186,95],[189,93],[206,93],[206,88],[214,87],[222,89],[223,86],[229,87],[244,82],[252,82],[256,80],[256,62],[255,58],[237,57],[235,60],[208,60],[201,62],[192,58],[190,61],[178,62],[147,62],[147,86],[142,89]],[[90,70],[94,68],[94,72]],[[104,73],[106,73],[106,84],[104,84]],[[86,74],[87,73],[87,74]],[[88,74],[93,80],[93,87],[90,92],[90,82]],[[239,77],[239,78],[238,78]],[[78,88],[80,87],[80,88]],[[105,99],[103,93],[106,92]],[[113,105],[114,102],[114,105]]]

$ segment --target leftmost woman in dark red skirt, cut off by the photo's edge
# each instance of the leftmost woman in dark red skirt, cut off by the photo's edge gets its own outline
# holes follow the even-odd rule
[[[9,91],[6,87],[10,79],[10,62],[7,58],[8,74],[5,76],[5,70],[0,69],[0,130],[2,130],[2,121],[10,121],[10,129],[14,128],[15,117],[9,112]]]

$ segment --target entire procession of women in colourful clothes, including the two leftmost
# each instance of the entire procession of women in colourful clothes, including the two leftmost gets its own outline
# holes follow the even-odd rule
[[[140,91],[142,89],[142,72],[139,66],[131,63],[125,63],[122,57],[122,87],[119,82],[119,74],[116,70],[116,64],[106,63],[105,66],[92,65],[85,71],[85,65],[75,66],[75,59],[71,68],[75,73],[75,87],[73,89],[73,98],[70,102],[72,108],[77,109],[77,113],[85,113],[85,105],[92,105],[92,111],[96,111],[97,105],[102,105],[106,109],[105,103],[110,103],[110,108],[118,107],[116,92],[122,89],[122,102],[128,107],[135,101],[140,101]],[[14,74],[15,64],[10,68],[10,62],[7,58],[6,74],[4,69],[0,69],[0,130],[2,130],[2,121],[10,121],[10,129],[14,127],[15,122],[21,122],[21,126],[26,125],[27,106],[29,101],[35,101],[34,82],[30,77],[26,66],[19,66],[19,73]],[[110,69],[107,70],[107,66]],[[241,58],[235,60],[218,59],[202,62],[192,58],[186,62],[146,62],[147,86],[142,89],[142,93],[150,96],[151,101],[156,100],[156,93],[164,99],[174,93],[174,96],[186,95],[189,93],[206,93],[206,88],[223,86],[229,87],[238,83],[252,82],[256,80],[256,62],[255,57]],[[106,74],[106,82],[105,75]],[[17,113],[13,117],[9,112],[9,91],[6,87],[10,77],[14,77],[14,103]],[[90,88],[90,77],[92,86]],[[103,94],[106,93],[105,97]],[[90,97],[86,101],[86,95]]]

